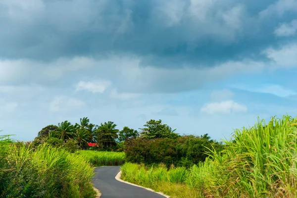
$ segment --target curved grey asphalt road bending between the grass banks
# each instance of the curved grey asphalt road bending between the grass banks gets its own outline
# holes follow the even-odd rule
[[[100,198],[164,198],[146,189],[119,182],[115,176],[119,166],[105,166],[95,169],[93,184],[102,193]]]

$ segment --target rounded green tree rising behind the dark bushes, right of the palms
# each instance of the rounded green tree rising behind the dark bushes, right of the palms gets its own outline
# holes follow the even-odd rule
[[[155,138],[178,138],[179,135],[174,133],[175,129],[172,130],[167,124],[162,124],[162,120],[149,120],[147,124],[142,128],[141,137],[147,139]]]

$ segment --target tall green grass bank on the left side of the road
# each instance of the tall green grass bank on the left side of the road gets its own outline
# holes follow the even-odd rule
[[[0,197],[92,198],[94,167],[84,156],[41,145],[0,143]]]

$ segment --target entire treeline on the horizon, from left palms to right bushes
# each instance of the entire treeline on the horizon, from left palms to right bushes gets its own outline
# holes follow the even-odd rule
[[[124,151],[128,162],[184,167],[204,161],[211,150],[222,149],[222,144],[211,140],[208,134],[179,135],[161,120],[149,120],[140,131],[116,127],[111,121],[92,124],[87,117],[74,125],[64,121],[43,128],[33,146],[47,143],[70,152],[78,149]],[[89,148],[88,143],[96,143],[96,146]]]

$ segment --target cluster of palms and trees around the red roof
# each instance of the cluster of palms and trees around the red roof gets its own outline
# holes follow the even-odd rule
[[[124,140],[139,136],[137,130],[124,127],[120,131],[116,126],[111,121],[95,125],[90,123],[88,117],[81,118],[80,122],[74,125],[66,120],[58,125],[43,128],[34,139],[33,145],[48,143],[55,147],[66,148],[68,151],[75,151],[89,148],[88,143],[96,143],[94,149],[118,150]]]

